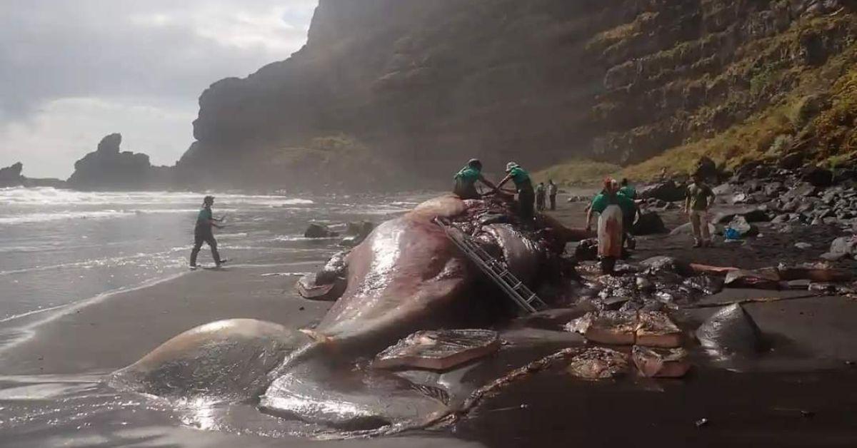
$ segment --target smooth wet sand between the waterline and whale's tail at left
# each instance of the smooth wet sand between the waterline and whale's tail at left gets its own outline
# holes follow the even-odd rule
[[[328,302],[297,297],[297,276],[317,264],[200,269],[147,288],[121,292],[34,322],[30,335],[0,351],[0,373],[110,372],[127,366],[178,333],[208,322],[249,318],[300,327],[327,312]]]

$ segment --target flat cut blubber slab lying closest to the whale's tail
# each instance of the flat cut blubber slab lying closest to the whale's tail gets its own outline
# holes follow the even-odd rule
[[[499,348],[500,338],[490,330],[416,332],[375,356],[372,367],[447,370]]]

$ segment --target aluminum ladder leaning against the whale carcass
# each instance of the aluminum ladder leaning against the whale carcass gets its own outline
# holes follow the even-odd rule
[[[500,290],[503,290],[506,296],[509,296],[518,305],[518,308],[521,308],[525,313],[536,313],[548,308],[535,292],[530,290],[524,282],[518,280],[512,272],[509,272],[505,264],[485,252],[479,244],[473,241],[473,238],[451,224],[447,224],[441,218],[434,218],[434,224],[440,226],[440,229],[461,249],[461,252],[467,255],[467,258],[494,281],[494,284],[497,284]]]

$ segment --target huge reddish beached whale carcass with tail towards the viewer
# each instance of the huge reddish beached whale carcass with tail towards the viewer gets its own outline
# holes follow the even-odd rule
[[[333,263],[347,286],[315,328],[299,334],[247,320],[203,326],[117,371],[111,384],[165,397],[198,394],[223,401],[255,399],[265,390],[262,409],[332,421],[339,427],[361,426],[366,421],[393,424],[423,414],[406,403],[422,403],[417,410],[432,409],[428,414],[442,415],[442,400],[431,394],[417,400],[413,391],[419,388],[404,385],[404,379],[387,380],[343,367],[350,361],[353,366],[357,357],[377,354],[412,332],[466,326],[476,316],[483,318],[483,308],[490,302],[497,302],[495,297],[492,301],[474,294],[481,274],[434,224],[437,217],[448,218],[476,236],[524,281],[536,280],[537,272],[551,272],[533,267],[551,262],[565,240],[575,236],[557,224],[553,230],[524,229],[503,200],[460,200],[451,195],[428,200],[381,224],[343,262]],[[233,368],[237,365],[242,368]],[[315,378],[314,372],[325,374]],[[335,386],[322,390],[315,386],[318,381]],[[366,394],[377,398],[339,406],[349,412],[331,415],[325,410],[331,397]]]

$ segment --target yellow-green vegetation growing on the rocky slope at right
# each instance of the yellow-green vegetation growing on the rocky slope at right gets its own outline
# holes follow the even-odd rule
[[[645,17],[650,20],[650,16]],[[613,140],[608,141],[617,146],[609,152],[612,157],[606,158],[608,161],[620,161],[618,154],[639,153],[638,145],[662,145],[647,148],[645,152],[654,155],[617,168],[612,174],[647,180],[664,168],[671,173],[686,173],[703,156],[727,169],[756,160],[790,160],[793,164],[829,167],[857,164],[854,22],[854,14],[844,8],[829,15],[794,20],[782,33],[739,46],[722,69],[702,70],[697,76],[692,76],[692,70],[686,70],[678,79],[664,75],[678,69],[670,65],[676,60],[675,54],[691,52],[688,48],[692,43],[676,42],[672,48],[644,57],[638,63],[637,74],[628,75],[632,84],[626,90],[652,90],[636,97],[622,93],[625,96],[619,98],[625,104],[614,107],[608,107],[608,99],[614,99],[616,94],[604,95],[602,104],[593,110],[594,116],[614,118],[599,114],[629,107],[657,116],[663,113],[666,102],[673,102],[674,109],[668,112],[672,115],[664,121],[671,130],[666,132],[658,123],[650,123],[633,128],[621,138],[611,134]],[[635,35],[633,30],[643,27],[639,21],[632,23],[632,27],[603,33],[595,41],[599,45],[627,42]],[[646,64],[652,61],[662,64],[662,71],[654,78],[641,78],[650,72]],[[684,87],[675,87],[680,85]],[[668,97],[669,92],[680,93],[683,98]],[[662,101],[651,101],[658,98]],[[683,137],[671,145],[670,139],[675,135],[670,133],[675,132]],[[543,172],[555,173],[565,183],[596,182],[606,169],[598,164],[595,166],[599,170],[586,168],[593,164],[575,159]]]

